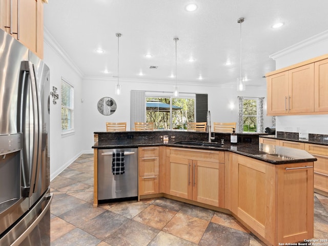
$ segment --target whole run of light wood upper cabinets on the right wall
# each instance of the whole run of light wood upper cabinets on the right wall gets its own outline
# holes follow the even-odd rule
[[[267,75],[267,114],[328,114],[328,55]]]

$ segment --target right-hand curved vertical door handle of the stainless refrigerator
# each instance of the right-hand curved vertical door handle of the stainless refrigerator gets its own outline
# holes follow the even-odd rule
[[[31,176],[30,176],[30,189],[28,196],[32,196],[36,187],[36,180],[37,180],[37,170],[39,169],[39,140],[40,140],[40,130],[39,130],[39,116],[38,116],[38,97],[37,97],[37,88],[36,88],[36,81],[34,75],[34,68],[33,64],[30,61],[22,61],[22,66],[24,71],[29,74],[30,80],[30,88],[31,88],[31,95],[32,95],[32,109],[33,109],[33,151],[32,151],[32,166],[31,166]]]

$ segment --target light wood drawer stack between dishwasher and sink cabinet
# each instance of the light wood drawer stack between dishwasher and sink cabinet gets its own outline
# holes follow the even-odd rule
[[[139,195],[159,193],[159,147],[139,147]]]

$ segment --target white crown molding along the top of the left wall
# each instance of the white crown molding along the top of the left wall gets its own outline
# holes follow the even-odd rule
[[[67,52],[59,45],[57,40],[51,35],[46,27],[44,27],[44,42],[67,63],[80,77],[84,77],[84,73],[76,66]]]

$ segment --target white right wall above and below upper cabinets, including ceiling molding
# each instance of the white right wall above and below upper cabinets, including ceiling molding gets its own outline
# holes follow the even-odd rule
[[[288,67],[328,53],[328,31],[304,40],[272,55],[276,60],[276,69]],[[298,132],[308,130],[314,134],[328,134],[326,127],[328,115],[277,116],[276,131]]]

